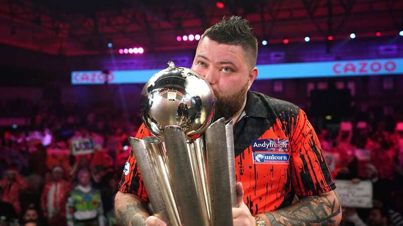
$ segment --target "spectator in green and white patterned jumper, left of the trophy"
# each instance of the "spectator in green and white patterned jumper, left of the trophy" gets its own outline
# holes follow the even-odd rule
[[[101,193],[92,188],[90,177],[88,169],[82,169],[78,174],[79,185],[70,193],[66,207],[69,226],[105,225]]]

